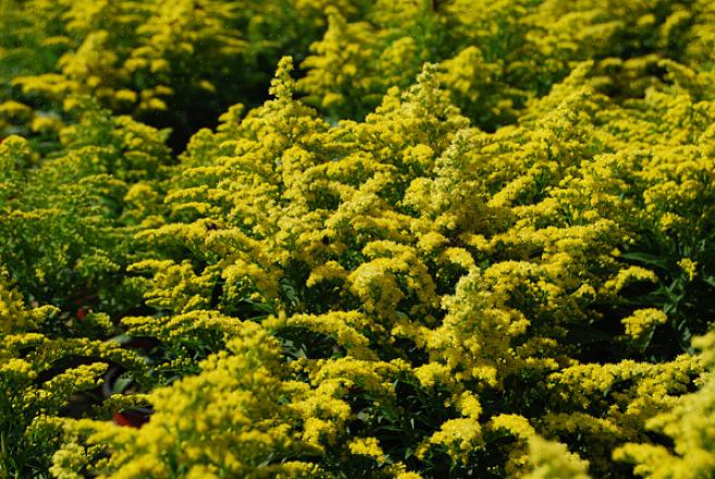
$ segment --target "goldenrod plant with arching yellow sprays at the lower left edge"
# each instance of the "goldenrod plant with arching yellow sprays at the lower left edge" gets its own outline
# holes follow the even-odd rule
[[[59,316],[58,308],[52,306],[26,308],[22,295],[4,273],[0,275],[3,477],[49,467],[51,455],[61,443],[62,423],[58,415],[101,385],[109,363],[137,374],[144,369],[139,357],[116,344],[51,337],[61,320]]]

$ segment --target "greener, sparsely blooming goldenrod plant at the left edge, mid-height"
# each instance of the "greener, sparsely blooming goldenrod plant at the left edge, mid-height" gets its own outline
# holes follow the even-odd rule
[[[136,248],[125,198],[170,161],[167,132],[78,108],[51,156],[38,160],[20,137],[0,145],[0,262],[30,300],[119,312],[136,304],[121,280]]]

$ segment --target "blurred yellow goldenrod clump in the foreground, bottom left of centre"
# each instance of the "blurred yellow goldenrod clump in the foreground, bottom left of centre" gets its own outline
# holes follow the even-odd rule
[[[227,347],[207,358],[199,374],[156,389],[155,414],[141,430],[81,420],[65,433],[101,444],[96,455],[110,449],[108,459],[91,464],[98,477],[312,477],[318,468],[310,462],[284,460],[315,449],[300,440],[294,388],[279,379],[276,341],[244,323]],[[78,445],[67,442],[56,454],[56,475],[70,474],[65,456]]]

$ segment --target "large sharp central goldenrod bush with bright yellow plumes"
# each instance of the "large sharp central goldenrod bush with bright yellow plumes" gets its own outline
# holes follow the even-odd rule
[[[161,451],[184,447],[194,451],[187,462],[248,470],[201,447],[208,441],[201,434],[222,426],[219,419],[202,426],[212,416],[196,401],[214,394],[198,392],[208,388],[207,364],[248,360],[254,346],[239,352],[232,337],[252,324],[256,334],[278,337],[286,364],[282,372],[272,366],[255,376],[249,390],[239,386],[241,397],[260,395],[255,388],[264,381],[285,381],[270,388],[287,388],[293,398],[267,393],[261,407],[278,414],[291,405],[291,413],[281,413],[285,423],[246,422],[257,428],[236,439],[246,445],[226,443],[222,451],[254,451],[248,438],[257,434],[276,451],[303,444],[332,457],[308,460],[306,471],[370,458],[375,471],[397,474],[399,454],[409,467],[440,470],[448,457],[459,465],[453,467],[476,471],[476,457],[495,460],[494,438],[508,431],[500,445],[508,459],[490,466],[502,474],[541,477],[559,467],[585,474],[584,462],[532,441],[534,434],[560,438],[596,476],[612,469],[611,451],[643,438],[649,418],[671,407],[701,373],[687,355],[662,364],[625,356],[656,351],[657,331],[682,316],[656,306],[653,293],[639,293],[669,277],[633,253],[642,228],[658,241],[670,210],[648,205],[665,205],[654,195],[675,174],[666,158],[655,159],[648,151],[665,146],[648,145],[661,137],[622,119],[654,122],[644,112],[681,90],[659,93],[659,106],[651,105],[655,97],[619,105],[595,91],[587,77],[593,66],[583,64],[519,125],[488,134],[468,126],[428,66],[416,86],[390,91],[365,122],[330,125],[293,98],[291,67],[288,60],[279,66],[275,99],[244,120],[234,109],[215,132],[196,135],[163,186],[168,219],[139,234],[155,251],[130,270],[144,275],[147,305],[167,315],[125,318],[130,333],[157,337],[169,361],[224,344],[234,352],[152,396],[149,425],[175,430],[171,441],[184,441],[184,428],[198,434],[194,445],[162,443]],[[685,151],[682,138],[673,142]],[[686,174],[691,167],[680,168]],[[658,195],[683,208],[703,201],[678,192]],[[683,253],[673,251],[678,274]],[[644,307],[632,306],[639,294]],[[600,351],[607,337],[622,352]],[[597,354],[604,360],[579,359]],[[165,415],[170,405],[161,397],[170,394],[190,395],[194,406]],[[418,420],[409,415],[419,418],[436,404],[440,419],[409,423]],[[241,417],[226,420],[244,423]],[[391,431],[415,431],[409,452],[386,446],[399,433],[377,433],[381,421]],[[144,470],[139,465],[149,467],[160,450],[146,458],[130,451],[148,441],[147,428],[131,440],[100,433],[89,443],[124,451],[112,454],[107,471]],[[160,467],[174,467],[172,460]],[[558,460],[564,465],[553,465]]]

